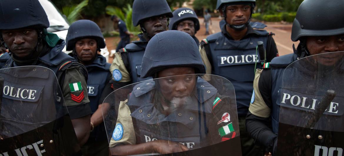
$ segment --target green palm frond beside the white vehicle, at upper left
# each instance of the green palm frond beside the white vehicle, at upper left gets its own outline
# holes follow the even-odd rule
[[[88,0],[84,0],[77,5],[65,6],[62,8],[62,13],[66,15],[69,23],[74,23],[75,21],[82,18],[80,13],[83,11],[84,7],[87,6],[87,4]]]

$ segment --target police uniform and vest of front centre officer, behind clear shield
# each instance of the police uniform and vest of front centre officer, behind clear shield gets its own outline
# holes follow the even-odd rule
[[[182,143],[188,148],[201,148],[233,137],[232,133],[220,136],[217,130],[228,124],[226,122],[217,124],[223,114],[236,113],[235,109],[230,109],[230,98],[219,95],[211,84],[201,78],[198,78],[196,84],[197,93],[201,95],[195,93],[192,96],[194,102],[188,103],[183,110],[172,112],[167,116],[160,112],[160,103],[151,103],[151,99],[154,99],[152,93],[156,90],[153,80],[139,83],[133,88],[128,100],[122,101],[119,105],[116,125],[120,126],[116,127],[117,129],[120,127],[123,133],[115,134],[115,128],[110,147],[170,140]],[[204,98],[197,100],[200,96]],[[236,121],[236,116],[230,116],[230,119]],[[200,123],[204,124],[199,125]],[[121,135],[121,138],[117,138],[117,135]]]

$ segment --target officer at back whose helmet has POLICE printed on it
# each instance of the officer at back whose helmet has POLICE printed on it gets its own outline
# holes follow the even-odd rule
[[[191,35],[197,45],[200,45],[200,41],[195,37],[197,31],[200,30],[200,21],[198,21],[196,12],[190,8],[179,8],[173,11],[169,30],[186,32]]]

